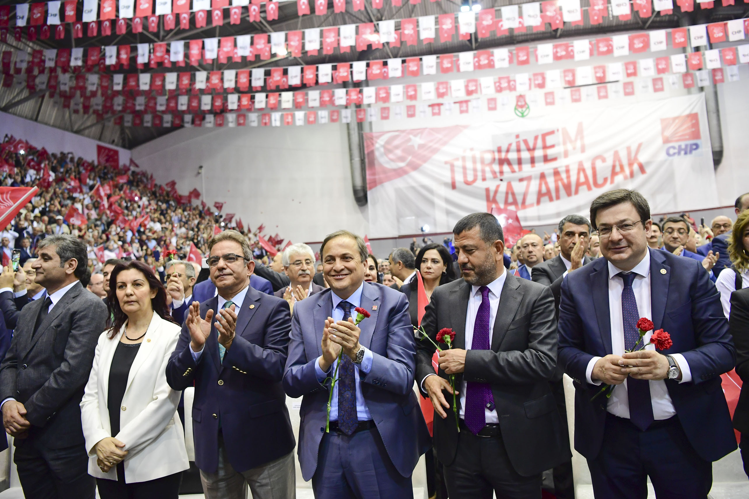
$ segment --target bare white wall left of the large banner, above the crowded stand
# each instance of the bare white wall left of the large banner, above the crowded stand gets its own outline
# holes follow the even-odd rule
[[[245,227],[265,224],[267,233],[294,242],[321,241],[341,228],[366,233],[342,124],[185,128],[137,147],[133,159],[157,183],[177,180],[182,194],[197,187],[210,205],[225,201],[222,212],[237,213]]]

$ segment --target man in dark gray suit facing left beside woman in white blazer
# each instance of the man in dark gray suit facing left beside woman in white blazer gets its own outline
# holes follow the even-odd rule
[[[34,281],[47,296],[23,307],[0,364],[3,426],[25,497],[92,499],[79,404],[108,313],[79,282],[88,276],[80,239],[47,236],[37,252]]]

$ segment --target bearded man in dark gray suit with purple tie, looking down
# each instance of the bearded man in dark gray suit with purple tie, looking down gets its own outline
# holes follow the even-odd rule
[[[455,499],[491,498],[492,491],[539,498],[542,472],[571,456],[548,383],[557,365],[554,298],[505,269],[494,215],[467,215],[452,232],[463,279],[434,290],[421,325],[434,341],[437,331],[451,329],[453,347],[443,347],[435,374],[434,345],[416,346],[416,382],[434,405],[434,449],[447,491]]]

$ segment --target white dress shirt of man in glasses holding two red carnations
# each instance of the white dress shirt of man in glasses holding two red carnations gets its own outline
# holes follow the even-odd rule
[[[611,325],[611,353],[613,355],[623,355],[625,344],[624,344],[624,319],[622,317],[622,291],[624,290],[624,282],[622,278],[617,275],[622,271],[613,266],[612,263],[608,262],[608,295],[609,295],[609,314],[610,314],[610,325]],[[652,310],[650,304],[651,294],[651,282],[650,282],[650,250],[645,254],[640,263],[634,266],[631,270],[636,274],[634,281],[632,282],[632,290],[634,291],[634,299],[637,300],[637,312],[640,317],[646,317],[652,320]],[[660,291],[658,291],[660,292]],[[674,331],[676,332],[676,331]],[[643,342],[648,343],[652,331],[648,331],[643,337]],[[648,345],[646,350],[655,350],[654,345]],[[682,370],[682,381],[680,383],[688,383],[692,381],[692,373],[689,370],[689,364],[683,355],[674,353],[670,354],[677,364],[679,369]],[[588,367],[585,371],[585,377],[592,385],[601,385],[601,381],[596,380],[595,382],[591,379],[591,373],[593,366],[598,362],[600,357],[593,357],[588,363]],[[650,380],[650,398],[652,399],[653,417],[656,420],[664,420],[672,417],[676,414],[676,408],[673,407],[671,397],[668,394],[666,383],[664,380],[659,379],[657,381]],[[608,400],[607,411],[611,414],[619,417],[626,417],[629,419],[629,399],[627,395],[627,380],[621,384],[616,385],[613,388],[610,399]]]

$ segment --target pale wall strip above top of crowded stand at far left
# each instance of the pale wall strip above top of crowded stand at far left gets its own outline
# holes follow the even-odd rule
[[[25,120],[14,114],[0,112],[0,139],[5,134],[22,138],[37,149],[44,147],[49,153],[73,152],[76,156],[81,156],[88,161],[96,160],[96,146],[100,144],[118,150],[121,165],[127,165],[130,162],[130,150],[94,141],[93,138],[76,135],[53,126]]]

